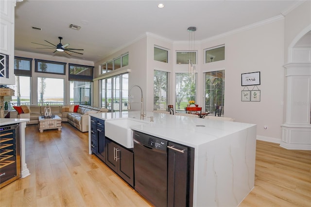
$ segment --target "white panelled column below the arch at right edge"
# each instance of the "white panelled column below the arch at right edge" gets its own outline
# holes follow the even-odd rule
[[[311,150],[311,63],[290,63],[286,68],[286,112],[280,146]]]

